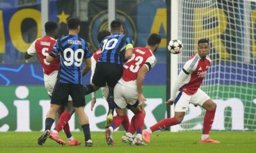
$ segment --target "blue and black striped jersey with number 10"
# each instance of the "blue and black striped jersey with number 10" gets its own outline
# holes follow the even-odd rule
[[[124,34],[113,33],[105,37],[100,43],[102,53],[97,62],[123,64],[125,48],[129,43],[132,44],[132,39]]]

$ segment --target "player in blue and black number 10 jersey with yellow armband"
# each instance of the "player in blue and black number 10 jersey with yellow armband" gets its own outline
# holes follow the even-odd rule
[[[100,43],[102,50],[99,60],[97,61],[95,73],[93,75],[92,84],[85,86],[85,94],[97,91],[99,87],[108,85],[108,117],[107,124],[113,120],[114,103],[114,87],[118,80],[122,77],[123,63],[132,56],[133,46],[132,40],[125,36],[123,26],[120,21],[113,20],[111,22],[111,35],[104,38]]]

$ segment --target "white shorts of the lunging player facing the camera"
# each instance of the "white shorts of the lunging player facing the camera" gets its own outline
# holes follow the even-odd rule
[[[175,112],[186,112],[189,103],[202,106],[205,101],[211,99],[204,91],[198,89],[195,94],[188,95],[185,92],[177,92],[177,98],[174,101]]]

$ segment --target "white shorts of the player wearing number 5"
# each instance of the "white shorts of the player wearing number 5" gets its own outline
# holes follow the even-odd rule
[[[54,89],[54,85],[56,84],[57,76],[58,71],[52,72],[51,75],[44,74],[44,85],[49,96],[52,96],[52,91]],[[68,101],[72,101],[71,96],[68,96]]]

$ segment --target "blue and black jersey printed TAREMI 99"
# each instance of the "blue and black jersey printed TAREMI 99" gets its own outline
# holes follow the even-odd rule
[[[57,82],[64,84],[83,84],[83,59],[91,57],[86,41],[77,35],[67,35],[58,40],[51,55],[61,55]]]

